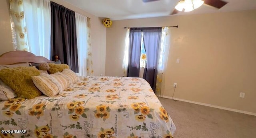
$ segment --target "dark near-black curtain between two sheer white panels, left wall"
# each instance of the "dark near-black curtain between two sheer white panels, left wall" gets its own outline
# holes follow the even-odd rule
[[[78,72],[75,12],[51,2],[51,56],[55,54]]]

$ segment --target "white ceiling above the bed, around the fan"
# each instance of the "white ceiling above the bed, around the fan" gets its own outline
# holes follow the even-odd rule
[[[98,17],[112,20],[145,17],[169,16],[179,0],[158,0],[144,3],[142,0],[64,0]],[[256,0],[224,0],[229,2],[217,9],[203,4],[192,12],[179,12],[176,15],[231,12],[256,9]],[[172,15],[172,16],[176,16]]]

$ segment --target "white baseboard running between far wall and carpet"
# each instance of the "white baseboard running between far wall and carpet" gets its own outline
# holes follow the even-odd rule
[[[194,103],[194,104],[198,104],[198,105],[204,105],[204,106],[208,106],[208,107],[214,107],[214,108],[218,108],[218,109],[223,109],[223,110],[228,110],[228,111],[233,111],[233,112],[238,112],[238,113],[243,113],[243,114],[248,114],[248,115],[254,115],[256,116],[256,113],[252,113],[252,112],[247,112],[247,111],[242,111],[242,110],[237,110],[237,109],[232,109],[232,108],[227,108],[227,107],[221,107],[221,106],[217,106],[217,105],[211,105],[211,104],[207,104],[207,103],[200,103],[200,102],[196,102],[196,101],[189,101],[189,100],[185,100],[185,99],[179,99],[179,98],[175,98],[175,97],[170,97],[170,96],[160,96],[158,95],[158,97],[163,97],[163,98],[167,98],[167,99],[174,99],[174,100],[178,100],[178,101],[184,101],[187,103]]]

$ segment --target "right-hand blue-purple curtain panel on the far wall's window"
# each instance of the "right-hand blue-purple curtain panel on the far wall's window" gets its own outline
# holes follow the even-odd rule
[[[142,29],[144,47],[146,51],[146,68],[143,78],[156,90],[156,76],[158,64],[158,51],[161,44],[162,27],[150,27]]]

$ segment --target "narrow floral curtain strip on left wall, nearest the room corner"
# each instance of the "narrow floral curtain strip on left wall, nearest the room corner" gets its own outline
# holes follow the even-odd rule
[[[87,59],[86,59],[86,71],[87,76],[93,76],[92,69],[92,44],[91,44],[91,19],[87,17]]]

